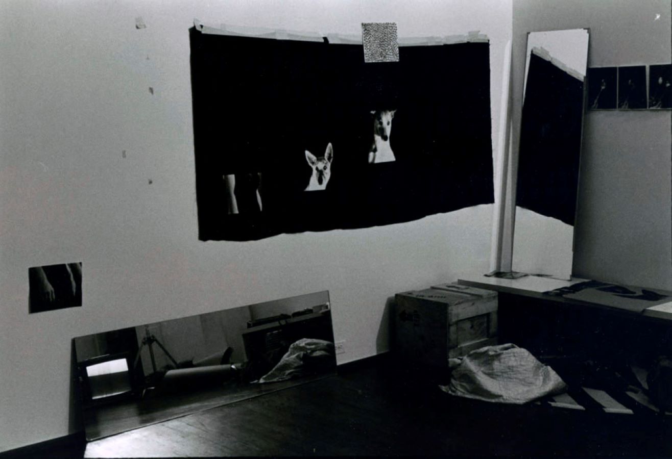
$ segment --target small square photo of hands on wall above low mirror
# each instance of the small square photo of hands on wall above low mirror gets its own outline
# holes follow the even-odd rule
[[[81,262],[28,268],[28,305],[30,314],[81,306]]]

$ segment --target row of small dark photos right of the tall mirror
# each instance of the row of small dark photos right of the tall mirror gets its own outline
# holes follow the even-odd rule
[[[588,69],[589,110],[672,108],[672,64]]]

